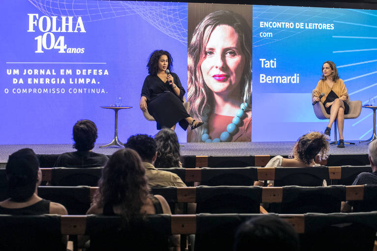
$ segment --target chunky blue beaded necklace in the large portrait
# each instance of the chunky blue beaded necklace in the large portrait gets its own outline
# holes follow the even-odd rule
[[[237,133],[237,127],[241,123],[241,118],[245,114],[245,110],[247,108],[247,103],[242,103],[240,105],[241,109],[237,110],[236,117],[233,118],[232,123],[226,126],[226,131],[223,131],[220,134],[220,138],[211,139],[210,135],[208,134],[208,128],[203,129],[202,134],[202,141],[205,143],[211,142],[230,142],[233,136]]]

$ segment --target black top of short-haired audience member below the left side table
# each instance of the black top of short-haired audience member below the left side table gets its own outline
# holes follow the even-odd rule
[[[93,151],[73,151],[60,154],[54,167],[103,167],[108,156]]]

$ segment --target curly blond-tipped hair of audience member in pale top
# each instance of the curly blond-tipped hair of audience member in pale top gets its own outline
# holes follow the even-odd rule
[[[290,158],[297,158],[309,165],[312,159],[319,155],[319,161],[328,157],[329,144],[328,136],[312,131],[302,135],[292,148]]]

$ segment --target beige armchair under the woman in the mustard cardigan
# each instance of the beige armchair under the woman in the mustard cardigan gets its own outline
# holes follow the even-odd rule
[[[314,95],[314,92],[312,92],[312,97]],[[347,98],[346,102],[350,106],[350,111],[348,114],[344,115],[345,119],[356,119],[359,117],[361,113],[361,106],[362,102],[360,100],[354,100],[351,101],[350,97]],[[330,114],[326,113],[326,110],[324,109],[322,102],[317,102],[315,105],[313,105],[314,113],[316,114],[317,118],[320,120],[328,120],[330,119]],[[330,144],[338,144],[337,140],[337,125],[336,125],[336,119],[334,121],[334,141]],[[354,145],[355,143],[352,142],[344,142],[344,144],[350,144]]]

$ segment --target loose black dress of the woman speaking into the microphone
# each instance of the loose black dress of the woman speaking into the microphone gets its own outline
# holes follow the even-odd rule
[[[183,96],[186,91],[183,89],[178,75],[173,76],[174,84],[179,88],[179,97],[174,93],[173,88],[166,81],[165,83],[157,75],[148,75],[141,89],[141,96],[147,98],[148,112],[157,122],[157,129],[163,127],[171,128],[177,122],[186,130],[188,122],[185,120],[190,117],[183,106]]]

